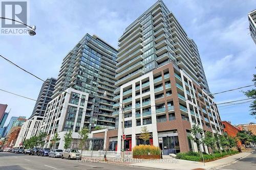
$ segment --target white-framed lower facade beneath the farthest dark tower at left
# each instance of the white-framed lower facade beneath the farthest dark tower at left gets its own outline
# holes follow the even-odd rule
[[[23,143],[25,139],[30,139],[32,136],[39,134],[42,118],[41,116],[34,115],[22,124],[14,147],[20,147],[20,144]]]

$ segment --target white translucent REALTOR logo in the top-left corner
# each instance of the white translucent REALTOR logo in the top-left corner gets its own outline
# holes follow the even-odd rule
[[[0,35],[27,35],[26,25],[29,25],[28,0],[0,0],[0,9],[0,17],[2,17],[0,19]]]

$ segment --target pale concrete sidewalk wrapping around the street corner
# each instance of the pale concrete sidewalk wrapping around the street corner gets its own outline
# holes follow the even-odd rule
[[[125,158],[124,162],[121,162],[121,158],[106,158],[103,157],[83,157],[82,161],[88,162],[103,162],[103,163],[112,163],[112,164],[123,164],[128,166],[140,166],[140,167],[149,167],[149,168],[159,168],[159,169],[211,169],[217,168],[229,163],[232,163],[236,160],[239,160],[245,156],[248,156],[250,152],[243,152],[240,154],[232,155],[229,157],[225,157],[222,159],[218,159],[211,162],[206,162],[205,165],[203,162],[195,162],[188,160],[181,160],[171,158],[169,156],[164,155],[163,159],[158,160],[145,160],[145,159],[133,159],[133,158]]]

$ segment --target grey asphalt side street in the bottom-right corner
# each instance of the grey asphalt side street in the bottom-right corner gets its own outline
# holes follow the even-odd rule
[[[254,150],[250,155],[247,157],[240,159],[239,161],[223,166],[221,168],[216,168],[218,170],[250,170],[256,169],[256,151]]]

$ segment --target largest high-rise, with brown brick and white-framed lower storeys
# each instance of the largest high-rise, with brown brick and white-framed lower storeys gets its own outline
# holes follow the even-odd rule
[[[158,1],[118,39],[116,86],[114,93],[118,132],[109,139],[121,151],[124,105],[124,150],[143,144],[141,128],[151,133],[148,144],[159,146],[163,154],[209,152],[190,139],[194,124],[205,131],[222,133],[217,105],[204,74],[197,45],[185,33],[174,14]],[[119,106],[120,105],[120,106]],[[114,132],[113,132],[114,133]],[[111,149],[113,150],[113,148]]]

